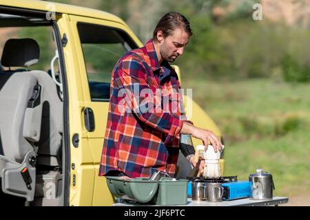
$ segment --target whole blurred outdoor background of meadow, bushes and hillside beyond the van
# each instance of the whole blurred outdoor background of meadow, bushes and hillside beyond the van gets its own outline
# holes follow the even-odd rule
[[[263,168],[273,175],[275,195],[306,197],[310,205],[309,1],[56,2],[116,14],[143,43],[163,14],[183,13],[194,36],[175,64],[182,86],[193,89],[223,131],[225,175],[246,180]],[[252,18],[254,3],[262,4],[262,21]],[[44,38],[39,43],[46,48]]]

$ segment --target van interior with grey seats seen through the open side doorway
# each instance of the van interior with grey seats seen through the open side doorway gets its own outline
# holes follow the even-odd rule
[[[0,34],[0,199],[62,206],[63,94],[52,23],[0,10]],[[49,50],[41,50],[42,36]]]

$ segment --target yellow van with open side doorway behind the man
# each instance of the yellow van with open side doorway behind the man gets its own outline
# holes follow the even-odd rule
[[[111,72],[143,43],[113,14],[48,1],[2,0],[0,34],[1,201],[111,206],[98,175]],[[194,124],[221,137],[194,101],[192,109]]]

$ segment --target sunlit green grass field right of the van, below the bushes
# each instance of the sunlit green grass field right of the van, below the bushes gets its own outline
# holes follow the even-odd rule
[[[225,137],[225,175],[273,175],[275,195],[310,192],[310,85],[281,80],[184,79]]]

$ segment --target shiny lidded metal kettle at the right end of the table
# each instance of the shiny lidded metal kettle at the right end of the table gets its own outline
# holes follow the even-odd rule
[[[258,200],[272,199],[273,190],[275,190],[272,175],[262,169],[257,169],[256,172],[249,175],[251,198]]]

